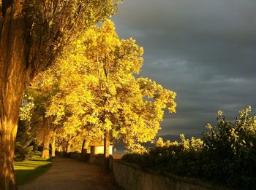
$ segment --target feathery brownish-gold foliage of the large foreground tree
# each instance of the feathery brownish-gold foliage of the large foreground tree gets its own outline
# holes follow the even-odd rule
[[[63,48],[91,25],[117,12],[121,0],[25,0],[23,17],[29,36],[29,63],[44,70]]]

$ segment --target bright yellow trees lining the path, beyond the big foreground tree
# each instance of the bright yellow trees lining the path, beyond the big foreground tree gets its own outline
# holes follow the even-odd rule
[[[83,140],[87,149],[90,140],[103,139],[105,157],[113,139],[143,151],[140,143],[157,135],[164,109],[175,111],[176,93],[133,76],[143,65],[142,55],[135,40],[118,38],[110,20],[91,26],[64,48],[56,63],[26,90],[34,108],[27,101],[22,111],[32,114],[34,136],[43,137],[42,157],[49,157],[50,141],[54,155],[56,139],[67,152]]]

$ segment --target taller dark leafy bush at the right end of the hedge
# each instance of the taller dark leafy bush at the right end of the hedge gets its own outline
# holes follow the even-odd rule
[[[218,112],[217,127],[203,134],[203,174],[222,183],[251,189],[256,185],[256,119],[251,108],[241,110],[236,122]],[[214,159],[212,159],[214,158]]]

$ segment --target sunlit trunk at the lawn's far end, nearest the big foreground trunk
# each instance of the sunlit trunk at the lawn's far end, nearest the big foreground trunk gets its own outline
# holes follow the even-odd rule
[[[48,159],[50,158],[50,138],[52,136],[52,132],[50,131],[48,125],[48,118],[44,118],[44,142],[42,149],[42,158]]]

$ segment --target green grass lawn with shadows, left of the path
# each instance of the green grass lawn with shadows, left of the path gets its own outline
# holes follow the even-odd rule
[[[28,183],[50,168],[50,159],[42,159],[40,155],[40,153],[37,153],[29,160],[14,162],[15,176],[18,185]]]

